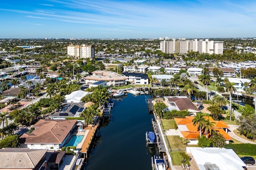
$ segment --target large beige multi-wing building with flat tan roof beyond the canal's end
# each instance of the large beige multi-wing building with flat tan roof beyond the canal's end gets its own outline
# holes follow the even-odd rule
[[[92,84],[96,81],[106,81],[110,86],[124,86],[127,78],[113,71],[93,71],[92,75],[84,77],[86,84]]]

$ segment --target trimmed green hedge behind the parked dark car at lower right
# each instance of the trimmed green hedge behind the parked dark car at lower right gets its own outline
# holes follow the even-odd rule
[[[227,149],[233,149],[236,154],[240,155],[256,155],[256,144],[243,143],[243,144],[227,144]]]

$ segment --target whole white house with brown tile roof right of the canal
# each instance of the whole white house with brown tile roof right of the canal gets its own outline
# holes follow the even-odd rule
[[[188,111],[190,115],[200,113],[200,110],[186,96],[165,96],[164,101],[168,105],[168,110]]]

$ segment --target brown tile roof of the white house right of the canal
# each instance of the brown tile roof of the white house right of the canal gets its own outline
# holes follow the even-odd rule
[[[180,109],[180,111],[186,111],[186,110],[194,110],[200,112],[200,110],[197,109],[197,107],[190,101],[190,99],[186,98],[176,98],[176,97],[167,97],[168,102],[174,102],[177,107]]]

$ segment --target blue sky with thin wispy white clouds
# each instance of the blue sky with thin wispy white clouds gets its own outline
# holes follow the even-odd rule
[[[255,0],[1,0],[0,38],[256,37]]]

